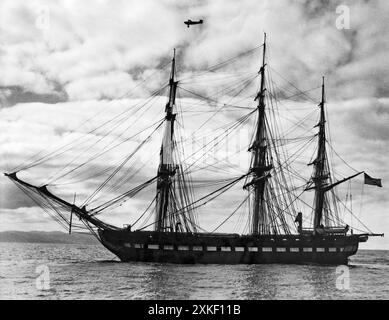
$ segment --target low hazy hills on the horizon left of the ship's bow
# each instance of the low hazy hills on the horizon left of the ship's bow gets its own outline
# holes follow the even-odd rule
[[[69,244],[97,244],[96,238],[90,234],[67,234],[60,231],[3,231],[0,232],[0,242],[25,243],[69,243]]]

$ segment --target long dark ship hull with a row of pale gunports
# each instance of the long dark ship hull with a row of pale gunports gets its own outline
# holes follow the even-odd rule
[[[178,264],[347,264],[366,235],[187,234],[100,230],[102,244],[121,261]]]

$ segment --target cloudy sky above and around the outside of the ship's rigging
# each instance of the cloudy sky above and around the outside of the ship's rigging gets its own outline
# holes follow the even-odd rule
[[[341,16],[348,12],[349,19]],[[42,148],[57,146],[69,132],[76,137],[74,128],[96,113],[88,130],[123,108],[142,104],[165,81],[173,48],[181,74],[201,72],[260,45],[266,31],[269,59],[277,72],[304,90],[317,87],[326,76],[337,153],[353,168],[382,178],[385,187],[389,181],[388,16],[386,0],[2,0],[1,170],[16,167]],[[188,29],[183,24],[188,18],[205,23]],[[258,70],[257,53],[246,60],[248,71]],[[320,92],[312,94],[319,99]],[[157,98],[160,108],[141,124],[160,119],[164,103]],[[219,125],[217,121],[223,123],[219,119],[212,125]],[[115,159],[105,161],[115,163]],[[40,173],[49,174],[64,163],[41,168]],[[336,165],[341,168],[340,162]],[[361,183],[355,182],[355,198],[361,196]],[[0,230],[58,229],[4,177],[0,190]],[[364,187],[363,207],[358,200],[355,206],[370,229],[389,234],[385,190]],[[141,207],[142,200],[137,201],[132,205]],[[389,249],[389,241],[373,239],[364,247]]]

